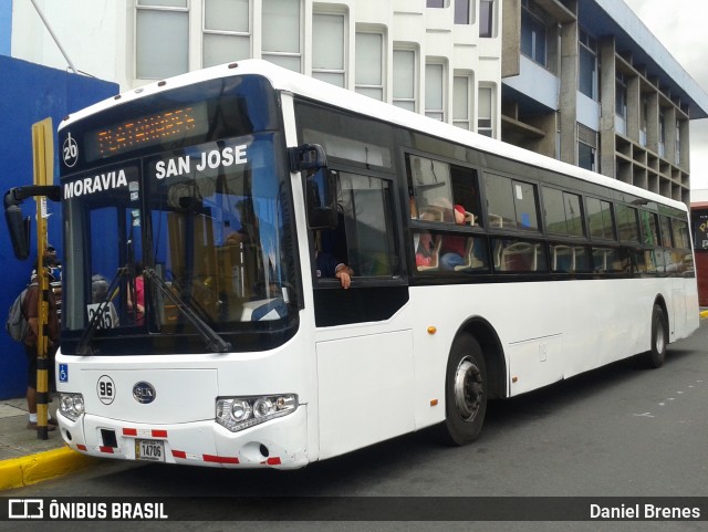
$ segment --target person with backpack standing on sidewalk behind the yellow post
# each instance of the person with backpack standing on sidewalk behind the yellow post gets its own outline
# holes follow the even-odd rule
[[[50,277],[51,282],[52,277],[50,273],[48,273],[48,275]],[[27,428],[30,430],[37,430],[37,341],[39,334],[39,296],[40,288],[37,279],[37,270],[32,270],[30,284],[27,290],[27,295],[24,296],[24,306],[22,309],[30,325],[30,330],[28,331],[27,337],[24,338],[24,354],[27,355],[28,361],[27,406],[30,413],[30,420],[27,424]],[[56,347],[59,346],[59,314],[56,312],[56,302],[54,301],[54,294],[51,290],[49,291],[49,316],[46,335],[49,337],[48,357],[50,361],[49,382],[51,389],[54,369],[54,353],[56,352]],[[55,428],[56,419],[50,417],[48,420],[46,429],[54,430]]]

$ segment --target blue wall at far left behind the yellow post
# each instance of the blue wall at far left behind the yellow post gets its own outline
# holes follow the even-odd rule
[[[0,0],[4,3],[4,0]],[[1,23],[0,14],[0,23]],[[1,30],[1,28],[0,28]],[[12,187],[31,185],[32,124],[51,116],[54,132],[64,116],[118,92],[116,83],[70,74],[25,61],[0,55],[0,195]],[[59,150],[54,136],[54,181],[59,170]],[[63,259],[66,250],[61,239],[61,209],[48,201],[49,241]],[[33,200],[22,205],[25,216],[34,220]],[[15,295],[29,282],[37,252],[27,261],[18,261],[4,222],[0,217],[0,272],[3,289],[0,291],[2,324],[7,310]],[[32,222],[31,250],[37,249],[37,226]],[[0,399],[23,397],[27,389],[27,362],[21,344],[0,332]]]

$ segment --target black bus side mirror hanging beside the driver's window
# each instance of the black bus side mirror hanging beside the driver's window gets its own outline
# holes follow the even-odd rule
[[[336,227],[336,180],[327,168],[327,156],[319,144],[289,148],[290,170],[305,175],[305,202],[310,229]]]

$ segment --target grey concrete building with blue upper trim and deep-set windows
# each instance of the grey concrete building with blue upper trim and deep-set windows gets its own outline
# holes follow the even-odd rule
[[[618,0],[504,0],[501,138],[688,204],[708,95]]]

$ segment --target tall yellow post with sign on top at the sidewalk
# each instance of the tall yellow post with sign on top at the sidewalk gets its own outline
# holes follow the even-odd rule
[[[34,185],[51,185],[54,179],[54,134],[52,118],[44,118],[32,125],[32,156],[34,161]],[[49,279],[44,269],[46,250],[46,197],[37,199],[37,283],[38,298],[37,336],[37,437],[48,439],[49,419]]]

